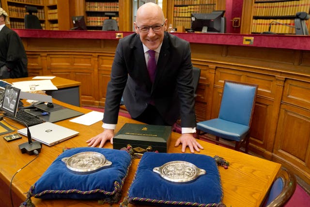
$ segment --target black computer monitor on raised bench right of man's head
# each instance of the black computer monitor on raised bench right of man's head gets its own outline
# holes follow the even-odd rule
[[[206,32],[225,33],[226,19],[224,13],[225,10],[218,10],[208,14],[191,14],[191,31],[189,32],[202,32],[202,28],[206,27]]]

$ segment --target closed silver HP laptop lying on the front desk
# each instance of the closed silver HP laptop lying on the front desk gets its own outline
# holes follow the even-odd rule
[[[29,127],[31,138],[44,143],[47,146],[53,146],[78,135],[78,131],[60,125],[44,122],[42,124]],[[18,129],[17,132],[27,136],[27,128]]]

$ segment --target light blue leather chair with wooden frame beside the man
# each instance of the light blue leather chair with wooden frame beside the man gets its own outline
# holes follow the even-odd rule
[[[258,85],[235,81],[224,81],[218,117],[197,123],[196,138],[203,134],[215,135],[216,139],[203,137],[218,144],[219,138],[235,141],[235,150],[245,144],[248,153],[249,131]]]

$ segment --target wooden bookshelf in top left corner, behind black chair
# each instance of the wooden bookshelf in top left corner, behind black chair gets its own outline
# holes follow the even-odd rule
[[[25,6],[35,6],[41,26],[45,30],[68,30],[70,27],[68,0],[1,0],[2,8],[7,11],[12,29],[25,29]],[[59,18],[61,17],[61,18]]]

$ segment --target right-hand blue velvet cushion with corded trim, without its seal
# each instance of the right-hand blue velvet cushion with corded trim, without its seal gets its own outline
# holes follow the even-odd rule
[[[206,174],[188,183],[175,183],[153,172],[154,167],[175,160],[190,162],[204,169]],[[221,203],[222,197],[220,175],[215,159],[189,153],[144,153],[128,191],[130,203],[163,207],[225,206]]]

